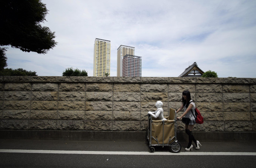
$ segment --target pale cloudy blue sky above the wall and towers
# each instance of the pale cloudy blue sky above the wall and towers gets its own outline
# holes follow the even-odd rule
[[[256,78],[255,0],[42,0],[57,46],[47,54],[8,46],[7,68],[62,76],[78,68],[93,76],[94,40],[135,47],[142,77],[178,77],[194,62],[218,77]]]

